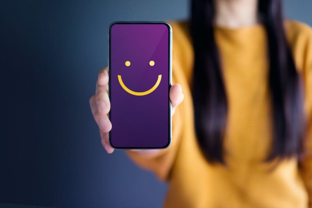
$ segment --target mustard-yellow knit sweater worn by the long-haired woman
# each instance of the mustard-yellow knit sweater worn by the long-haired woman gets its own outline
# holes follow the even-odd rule
[[[312,155],[300,164],[296,159],[277,164],[263,162],[272,138],[264,27],[259,24],[240,29],[215,28],[229,101],[224,143],[228,167],[224,167],[209,164],[198,147],[188,23],[170,24],[173,83],[180,83],[185,95],[173,115],[172,144],[151,155],[127,152],[139,166],[169,182],[164,207],[307,207],[312,201]],[[305,82],[307,147],[312,150],[312,30],[294,21],[286,21],[285,28]]]

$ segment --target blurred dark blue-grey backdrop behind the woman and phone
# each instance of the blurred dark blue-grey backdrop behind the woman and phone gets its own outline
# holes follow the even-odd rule
[[[285,0],[286,17],[312,26],[311,8]],[[111,22],[188,16],[188,0],[1,1],[0,202],[161,207],[165,183],[105,153],[89,98]]]

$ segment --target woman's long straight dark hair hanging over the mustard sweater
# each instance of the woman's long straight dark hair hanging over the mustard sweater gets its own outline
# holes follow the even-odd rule
[[[300,76],[287,44],[282,0],[258,0],[266,29],[268,84],[272,106],[272,145],[266,161],[300,156],[303,152],[304,113]],[[191,35],[194,47],[193,102],[195,130],[202,152],[211,163],[225,164],[223,137],[227,124],[227,94],[222,62],[213,32],[214,0],[193,0]]]

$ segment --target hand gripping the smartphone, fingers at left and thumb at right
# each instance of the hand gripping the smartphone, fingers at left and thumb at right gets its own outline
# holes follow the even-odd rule
[[[108,119],[108,112],[110,111],[110,100],[108,96],[108,67],[106,66],[100,70],[98,80],[96,82],[95,94],[90,98],[90,107],[95,122],[100,128],[101,143],[107,153],[114,152],[108,142],[108,132],[112,129],[112,124]],[[184,95],[182,93],[181,85],[174,84],[169,92],[170,101],[172,104],[171,114],[173,115],[177,106],[183,101]],[[158,152],[159,150],[134,150],[143,154],[150,154]]]

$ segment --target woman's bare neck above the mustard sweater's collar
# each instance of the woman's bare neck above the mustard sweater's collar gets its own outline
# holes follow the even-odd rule
[[[256,24],[258,1],[261,0],[215,0],[215,24],[229,28]]]

